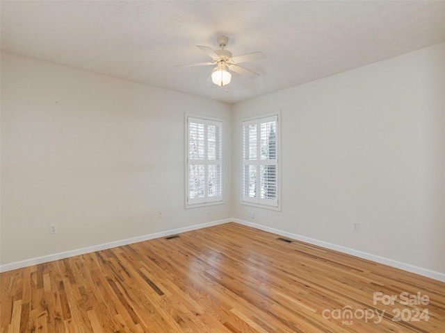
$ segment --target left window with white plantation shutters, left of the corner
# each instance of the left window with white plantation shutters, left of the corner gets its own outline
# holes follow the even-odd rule
[[[223,121],[186,119],[186,207],[223,203]]]

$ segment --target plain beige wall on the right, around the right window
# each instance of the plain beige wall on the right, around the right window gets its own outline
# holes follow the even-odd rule
[[[240,121],[276,110],[282,212],[248,219]],[[235,218],[445,273],[445,44],[238,103],[233,121]]]

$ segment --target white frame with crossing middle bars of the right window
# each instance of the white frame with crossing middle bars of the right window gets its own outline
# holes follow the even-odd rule
[[[281,112],[277,111],[277,112],[270,112],[268,114],[259,114],[257,116],[254,117],[249,117],[249,118],[245,118],[245,119],[241,119],[241,205],[248,205],[248,206],[254,206],[254,207],[261,207],[261,208],[266,208],[268,210],[277,210],[277,211],[281,211],[281,183],[280,183],[280,178],[281,178],[281,150],[280,150],[280,145],[281,145],[281,124],[280,124],[280,120],[281,120]],[[275,140],[276,140],[276,144],[275,144],[275,172],[276,172],[276,176],[275,176],[275,197],[276,200],[274,200],[273,202],[269,201],[270,199],[265,199],[265,198],[251,198],[248,196],[245,196],[245,165],[257,165],[257,170],[261,170],[261,156],[257,155],[257,159],[254,160],[256,161],[256,163],[252,162],[252,160],[245,160],[245,146],[244,146],[244,127],[245,126],[249,126],[250,124],[257,124],[257,126],[259,126],[261,123],[266,123],[268,122],[267,120],[270,121],[270,119],[274,119],[276,121],[276,130],[275,130]],[[258,130],[259,131],[259,130]],[[258,133],[258,132],[257,132]],[[257,140],[258,143],[258,140]],[[259,150],[259,148],[257,148],[257,151]],[[249,162],[246,162],[249,161]],[[263,165],[268,165],[268,164],[263,164]],[[257,183],[258,180],[260,178],[260,175],[257,176]]]

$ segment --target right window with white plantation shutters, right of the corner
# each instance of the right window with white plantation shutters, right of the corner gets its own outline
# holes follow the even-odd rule
[[[243,203],[278,207],[278,115],[243,121]]]

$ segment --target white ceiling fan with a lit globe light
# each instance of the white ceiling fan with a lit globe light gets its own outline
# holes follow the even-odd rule
[[[220,46],[219,50],[213,50],[209,46],[197,45],[199,49],[201,49],[210,56],[211,62],[175,65],[175,67],[216,65],[213,71],[211,72],[211,80],[213,83],[220,86],[229,84],[230,80],[232,79],[232,74],[230,74],[230,72],[227,71],[227,69],[229,69],[230,71],[234,71],[235,73],[240,74],[242,76],[246,76],[248,78],[257,78],[259,76],[259,74],[255,73],[254,71],[250,71],[249,69],[240,67],[238,66],[238,64],[242,62],[266,59],[264,53],[254,52],[233,57],[232,52],[225,50],[225,46],[227,46],[227,43],[229,42],[228,37],[220,36],[216,39],[216,41]]]

